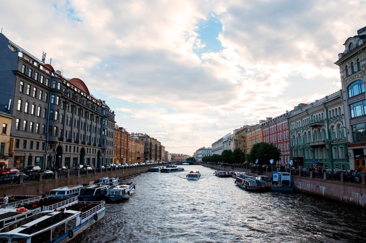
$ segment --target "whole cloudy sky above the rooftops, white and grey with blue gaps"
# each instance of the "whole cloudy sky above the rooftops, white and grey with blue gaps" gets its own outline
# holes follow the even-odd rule
[[[365,1],[29,1],[0,4],[3,34],[106,100],[128,132],[171,153],[340,89],[334,62]]]

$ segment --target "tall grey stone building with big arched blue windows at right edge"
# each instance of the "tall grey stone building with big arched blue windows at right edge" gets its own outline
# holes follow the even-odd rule
[[[338,54],[340,80],[343,91],[344,115],[347,117],[344,128],[347,130],[350,169],[361,166],[366,170],[366,27],[359,29],[357,35],[349,37],[344,52]]]

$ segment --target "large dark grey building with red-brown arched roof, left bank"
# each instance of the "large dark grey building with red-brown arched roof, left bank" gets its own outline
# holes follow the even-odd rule
[[[0,110],[15,119],[9,166],[113,163],[115,114],[89,94],[85,83],[67,79],[0,34]]]

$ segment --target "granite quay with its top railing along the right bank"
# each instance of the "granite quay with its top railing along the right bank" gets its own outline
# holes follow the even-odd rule
[[[215,162],[195,162],[202,166],[218,170],[238,170],[272,177],[272,168],[253,166],[247,164],[224,164]],[[295,190],[313,195],[336,199],[357,206],[366,207],[366,176],[329,173],[316,173],[300,171],[299,169],[286,169],[292,175],[292,185]],[[276,171],[276,170],[274,170]]]

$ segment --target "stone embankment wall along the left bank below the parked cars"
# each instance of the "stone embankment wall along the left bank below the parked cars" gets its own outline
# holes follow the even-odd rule
[[[89,184],[90,181],[99,182],[101,177],[119,177],[120,179],[147,172],[152,166],[137,167],[127,170],[113,170],[102,173],[79,175],[72,177],[57,178],[54,180],[42,180],[22,184],[4,185],[0,187],[0,194],[4,195],[44,195],[50,190],[67,185]]]

